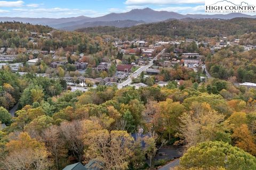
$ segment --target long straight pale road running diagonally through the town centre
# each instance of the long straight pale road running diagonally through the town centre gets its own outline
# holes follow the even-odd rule
[[[151,67],[153,65],[153,62],[157,59],[157,57],[159,55],[163,54],[164,51],[165,51],[165,48],[155,58],[153,58],[153,60],[151,60],[147,65],[141,66],[137,71],[135,71],[132,75],[130,75],[130,77],[127,80],[118,84],[117,88],[122,89],[123,87],[131,84],[132,83],[132,78],[137,78],[143,71],[146,71],[149,67]]]

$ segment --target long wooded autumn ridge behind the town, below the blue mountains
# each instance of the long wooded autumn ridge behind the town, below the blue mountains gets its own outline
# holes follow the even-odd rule
[[[130,39],[143,38],[149,35],[198,39],[201,37],[243,35],[244,33],[255,32],[255,25],[256,19],[249,18],[235,18],[231,20],[186,19],[141,24],[131,28],[93,27],[78,29],[77,31],[103,33],[114,37],[125,36]]]

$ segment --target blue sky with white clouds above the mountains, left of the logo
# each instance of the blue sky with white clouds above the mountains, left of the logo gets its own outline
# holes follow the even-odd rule
[[[66,18],[85,15],[95,17],[145,7],[182,14],[204,13],[204,0],[0,0],[0,16]]]

